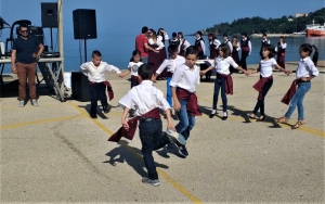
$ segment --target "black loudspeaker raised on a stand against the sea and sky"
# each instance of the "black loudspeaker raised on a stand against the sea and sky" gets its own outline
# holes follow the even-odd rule
[[[77,9],[73,15],[75,39],[98,38],[95,10]]]

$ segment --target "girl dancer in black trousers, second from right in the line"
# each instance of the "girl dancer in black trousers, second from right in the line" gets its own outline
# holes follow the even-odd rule
[[[263,60],[260,61],[259,67],[257,69],[250,72],[252,74],[260,72],[260,80],[258,80],[257,84],[253,85],[253,88],[257,91],[259,91],[259,97],[256,106],[252,113],[249,115],[249,117],[256,118],[256,114],[260,110],[260,117],[258,118],[258,120],[260,122],[265,119],[264,99],[270,88],[273,85],[273,77],[272,77],[273,66],[275,66],[280,71],[283,71],[287,75],[290,74],[289,71],[284,69],[276,63],[276,61],[273,59],[274,55],[275,55],[275,51],[273,46],[271,44],[264,46],[262,48]]]

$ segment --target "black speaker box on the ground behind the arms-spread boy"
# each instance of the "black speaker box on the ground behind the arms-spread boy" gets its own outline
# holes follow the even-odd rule
[[[72,94],[74,100],[90,101],[89,80],[81,72],[72,72]]]

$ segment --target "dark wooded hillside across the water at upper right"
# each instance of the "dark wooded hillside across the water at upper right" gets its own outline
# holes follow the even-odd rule
[[[325,8],[322,8],[315,12],[311,12],[308,16],[294,17],[282,16],[281,18],[262,18],[262,17],[245,17],[233,21],[231,24],[221,23],[204,29],[205,34],[217,34],[222,35],[224,33],[240,34],[246,31],[248,35],[251,34],[292,34],[295,31],[303,31],[307,24],[312,24],[313,20],[315,24],[324,24],[325,22]]]

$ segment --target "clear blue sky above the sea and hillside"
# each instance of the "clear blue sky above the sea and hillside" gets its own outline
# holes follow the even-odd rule
[[[41,25],[41,2],[55,0],[0,0],[0,16],[9,24],[27,18]],[[169,34],[192,34],[221,22],[239,17],[282,17],[299,12],[313,12],[325,7],[325,0],[63,0],[64,33],[73,33],[73,11],[96,10],[99,36],[136,35],[146,25],[154,29],[164,27]],[[156,2],[153,4],[153,2]],[[177,2],[177,3],[176,3]],[[2,30],[1,40],[8,37]]]

